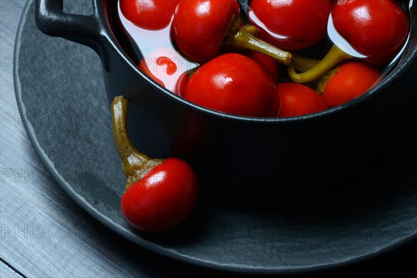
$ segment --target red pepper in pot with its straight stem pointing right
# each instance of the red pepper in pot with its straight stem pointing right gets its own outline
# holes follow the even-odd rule
[[[255,38],[243,27],[237,0],[180,0],[172,30],[179,49],[195,62],[206,62],[218,56],[225,45],[232,45],[290,63],[291,54]]]

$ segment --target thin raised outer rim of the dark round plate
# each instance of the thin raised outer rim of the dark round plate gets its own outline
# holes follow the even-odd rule
[[[130,240],[131,242],[135,243],[136,245],[149,250],[150,252],[155,252],[161,256],[166,256],[170,259],[174,259],[176,261],[181,261],[182,263],[189,263],[191,265],[210,268],[213,270],[222,270],[226,272],[239,272],[245,274],[275,274],[275,275],[286,275],[286,274],[301,274],[306,272],[317,272],[319,270],[331,270],[334,268],[341,268],[347,265],[353,265],[355,263],[359,263],[362,261],[366,261],[368,259],[375,258],[377,256],[381,256],[396,248],[405,245],[412,240],[417,239],[417,231],[414,234],[409,236],[405,236],[402,238],[398,238],[398,240],[390,245],[383,246],[379,248],[379,250],[368,252],[367,254],[362,254],[360,256],[356,256],[354,258],[346,259],[343,261],[338,261],[335,263],[322,263],[322,264],[315,264],[315,265],[306,265],[305,267],[277,267],[277,268],[265,268],[265,267],[254,267],[249,265],[241,265],[241,264],[222,264],[222,263],[212,263],[208,261],[204,261],[202,259],[197,259],[192,256],[186,256],[185,254],[179,254],[174,252],[172,249],[168,249],[165,247],[161,247],[156,243],[149,242],[149,240],[145,240],[140,238],[140,236],[135,235],[129,232],[124,227],[120,226],[119,224],[115,223],[111,218],[106,217],[103,213],[99,213],[97,209],[95,209],[90,203],[88,203],[85,198],[75,190],[73,190],[70,183],[65,181],[63,177],[60,176],[56,167],[54,167],[53,161],[49,160],[49,157],[44,152],[44,149],[41,147],[40,142],[38,142],[37,136],[35,135],[35,131],[31,125],[31,122],[28,120],[28,115],[26,113],[26,106],[22,99],[22,86],[19,79],[19,63],[17,63],[19,54],[20,54],[20,46],[21,46],[21,38],[22,38],[22,31],[23,27],[26,23],[26,20],[29,15],[33,13],[30,12],[30,7],[34,3],[35,0],[28,0],[26,6],[24,8],[24,13],[22,13],[22,17],[19,20],[19,26],[17,28],[17,33],[15,37],[15,47],[13,53],[13,83],[15,88],[15,97],[17,100],[17,107],[19,109],[20,116],[22,117],[22,122],[24,124],[24,128],[26,130],[26,134],[31,141],[35,152],[37,152],[38,156],[40,156],[40,160],[42,161],[43,165],[47,168],[47,171],[50,172],[51,176],[54,178],[56,183],[64,190],[64,192],[84,211],[86,211],[92,218],[99,221],[105,227],[110,229],[111,231],[115,232],[116,234]]]

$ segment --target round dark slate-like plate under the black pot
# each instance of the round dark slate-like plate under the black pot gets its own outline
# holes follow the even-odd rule
[[[26,11],[16,39],[15,88],[28,136],[65,192],[117,234],[180,261],[256,273],[346,265],[416,238],[412,112],[375,147],[343,158],[344,170],[335,170],[320,192],[286,196],[270,208],[201,199],[173,231],[134,231],[120,213],[125,178],[99,58],[79,44],[43,35],[33,9]],[[346,169],[351,174],[343,174]]]

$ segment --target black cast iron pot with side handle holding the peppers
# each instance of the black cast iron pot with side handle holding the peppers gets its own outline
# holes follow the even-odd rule
[[[413,13],[416,12],[414,5]],[[36,22],[48,35],[94,49],[101,58],[108,100],[129,99],[129,133],[141,152],[177,156],[195,167],[205,196],[275,199],[299,188],[331,185],[371,159],[379,140],[417,88],[417,21],[400,63],[365,95],[327,111],[290,118],[252,118],[196,106],[161,88],[116,40],[117,1],[93,0],[92,15],[63,13],[62,0],[37,0]],[[110,106],[109,106],[110,109]],[[358,152],[357,149],[361,151]],[[350,154],[350,163],[343,163]],[[357,159],[357,161],[354,161]],[[353,164],[353,165],[352,165]],[[337,177],[336,177],[337,178]]]

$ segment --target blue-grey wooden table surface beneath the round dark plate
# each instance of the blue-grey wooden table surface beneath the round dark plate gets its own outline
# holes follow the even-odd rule
[[[13,47],[24,0],[1,0],[0,277],[241,277],[166,259],[101,225],[65,195],[31,146],[13,87]],[[413,259],[414,258],[414,259]],[[303,277],[417,277],[417,242],[375,259]],[[398,275],[395,275],[398,277]]]

